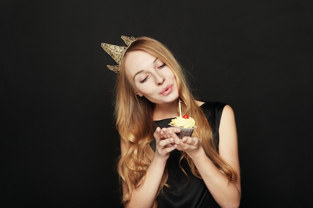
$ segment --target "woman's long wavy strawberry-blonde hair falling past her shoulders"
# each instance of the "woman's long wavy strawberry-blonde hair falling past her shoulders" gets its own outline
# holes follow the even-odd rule
[[[196,104],[188,85],[185,71],[167,48],[166,45],[150,37],[138,37],[126,50],[126,53],[133,50],[143,50],[163,61],[173,72],[178,87],[179,98],[183,101],[181,108],[183,113],[192,115],[197,128],[193,136],[200,138],[202,147],[207,157],[229,180],[236,179],[235,171],[227,165],[216,152],[212,140],[211,128],[201,108]],[[126,55],[125,53],[125,55]],[[145,179],[146,170],[154,156],[150,147],[153,138],[153,109],[154,103],[148,101],[144,96],[139,97],[125,76],[124,61],[120,64],[120,74],[116,77],[115,84],[115,110],[114,116],[116,129],[120,135],[121,142],[125,144],[125,151],[118,158],[117,171],[120,179],[124,181],[127,190],[122,197],[121,203],[130,200],[132,190],[138,188]],[[178,108],[177,108],[178,110]],[[181,160],[185,158],[192,173],[201,178],[194,163],[186,153],[182,153]],[[164,186],[167,186],[167,170],[165,168],[158,193]],[[156,200],[152,208],[157,207]]]

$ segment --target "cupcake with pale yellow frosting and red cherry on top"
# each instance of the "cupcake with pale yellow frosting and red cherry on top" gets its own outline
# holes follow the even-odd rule
[[[194,119],[189,117],[186,114],[183,116],[177,116],[176,118],[171,119],[168,125],[172,127],[180,128],[180,132],[176,133],[180,139],[184,136],[191,137],[193,130],[196,128]]]

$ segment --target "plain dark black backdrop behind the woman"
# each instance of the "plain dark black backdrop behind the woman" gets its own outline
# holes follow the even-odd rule
[[[240,208],[308,208],[310,0],[0,0],[1,207],[118,208],[120,35],[164,42],[236,116]]]

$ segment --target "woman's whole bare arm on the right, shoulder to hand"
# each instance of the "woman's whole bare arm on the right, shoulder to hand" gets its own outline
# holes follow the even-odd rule
[[[174,137],[174,135],[172,135]],[[240,169],[238,159],[237,132],[234,113],[229,105],[223,109],[219,125],[219,155],[237,174],[235,182],[229,181],[205,155],[201,141],[196,137],[184,137],[177,150],[185,151],[194,162],[207,189],[221,208],[238,208],[241,198]]]

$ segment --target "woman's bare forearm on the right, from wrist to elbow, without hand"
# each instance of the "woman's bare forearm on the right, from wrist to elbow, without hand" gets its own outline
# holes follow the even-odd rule
[[[207,189],[221,208],[238,208],[240,190],[228,180],[205,155],[203,149],[189,155],[199,171]]]

